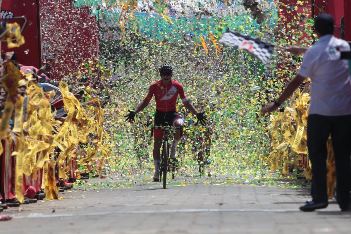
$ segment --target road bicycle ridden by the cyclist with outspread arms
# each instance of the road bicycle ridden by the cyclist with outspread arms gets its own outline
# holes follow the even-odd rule
[[[183,135],[182,127],[169,127],[169,126],[154,126],[151,131],[151,136],[153,135],[153,129],[163,129],[163,143],[162,143],[162,153],[160,158],[160,166],[159,166],[159,181],[161,182],[161,178],[163,178],[163,188],[166,188],[167,184],[167,172],[171,172],[172,179],[174,179],[176,175],[176,165],[174,161],[170,158],[170,143],[168,142],[168,136],[171,135],[171,130],[180,130],[180,136]]]

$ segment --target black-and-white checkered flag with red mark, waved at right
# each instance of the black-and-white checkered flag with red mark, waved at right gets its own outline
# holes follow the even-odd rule
[[[268,42],[230,30],[223,33],[218,42],[220,44],[246,49],[263,63],[268,62],[274,50],[274,45]]]

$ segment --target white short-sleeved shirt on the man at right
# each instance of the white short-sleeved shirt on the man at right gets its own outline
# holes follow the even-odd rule
[[[347,60],[340,59],[340,51],[350,51],[350,45],[324,35],[304,54],[298,74],[311,78],[309,114],[351,114],[350,73]]]

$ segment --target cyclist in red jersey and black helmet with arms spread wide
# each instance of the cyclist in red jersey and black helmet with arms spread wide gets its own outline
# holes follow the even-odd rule
[[[205,123],[207,119],[203,113],[199,113],[192,103],[186,98],[183,86],[177,81],[172,80],[173,67],[169,64],[162,64],[159,68],[161,80],[153,83],[149,92],[146,95],[144,101],[139,103],[138,107],[134,111],[129,111],[129,114],[125,117],[127,121],[133,122],[135,114],[145,109],[152,96],[155,95],[156,101],[156,113],[154,118],[154,126],[173,126],[183,127],[184,121],[182,117],[176,112],[176,104],[178,94],[183,102],[185,108],[196,115],[198,122]],[[160,163],[160,148],[162,145],[163,130],[154,129],[154,148],[153,148],[153,159],[155,165],[155,174],[153,180],[157,182],[159,180],[159,163]],[[180,130],[177,130],[174,134],[174,142],[171,147],[171,158],[174,160],[177,158],[176,147],[180,141],[181,135]]]

